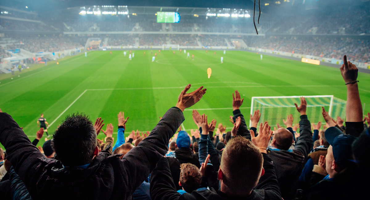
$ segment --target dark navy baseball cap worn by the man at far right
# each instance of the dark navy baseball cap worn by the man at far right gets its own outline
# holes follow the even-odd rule
[[[325,131],[325,139],[333,146],[334,161],[344,169],[351,164],[352,143],[357,138],[352,135],[344,135],[337,127],[330,127]]]

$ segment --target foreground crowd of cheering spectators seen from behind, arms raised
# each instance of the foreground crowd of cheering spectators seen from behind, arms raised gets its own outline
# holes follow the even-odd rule
[[[92,123],[80,113],[68,115],[37,148],[45,125],[31,142],[12,111],[0,110],[1,199],[369,199],[370,113],[363,118],[358,69],[346,56],[343,62],[346,120],[322,108],[323,128],[308,120],[304,97],[295,104],[299,124],[289,114],[284,127],[271,130],[256,110],[248,128],[235,91],[231,131],[193,110],[198,128],[188,134],[181,130],[183,111],[212,95],[203,86],[188,93],[190,84],[152,131],[125,138],[130,120],[118,113],[117,141],[114,122],[104,130],[101,117]]]

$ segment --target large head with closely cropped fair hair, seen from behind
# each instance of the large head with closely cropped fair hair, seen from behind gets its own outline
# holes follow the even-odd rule
[[[221,191],[233,196],[252,192],[261,176],[262,154],[249,139],[237,136],[230,139],[222,152],[218,179]]]

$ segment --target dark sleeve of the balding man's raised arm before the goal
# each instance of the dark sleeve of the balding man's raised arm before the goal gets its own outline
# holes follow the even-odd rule
[[[307,160],[307,155],[313,147],[312,142],[312,132],[311,132],[311,124],[310,121],[307,119],[307,115],[301,115],[299,121],[299,137],[297,138],[296,145],[294,146],[295,150],[298,150],[305,156],[305,160]]]

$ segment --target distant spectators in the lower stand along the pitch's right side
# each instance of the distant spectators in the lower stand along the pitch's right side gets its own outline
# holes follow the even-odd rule
[[[260,37],[244,38],[250,47],[273,49],[295,54],[321,56],[323,58],[341,59],[347,55],[353,62],[370,62],[370,41],[361,39],[329,39],[329,38],[283,38]]]

